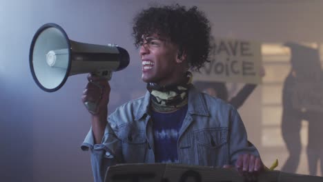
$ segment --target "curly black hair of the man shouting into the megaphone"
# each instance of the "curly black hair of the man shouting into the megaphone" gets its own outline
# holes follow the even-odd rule
[[[142,10],[133,19],[133,37],[139,48],[142,35],[158,34],[168,37],[172,43],[185,51],[190,68],[199,70],[208,61],[211,50],[211,26],[204,12],[196,6],[155,6]]]

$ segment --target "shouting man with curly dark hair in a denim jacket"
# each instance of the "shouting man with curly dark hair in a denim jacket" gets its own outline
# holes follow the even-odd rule
[[[82,144],[90,149],[95,181],[117,163],[182,163],[237,168],[253,177],[263,169],[233,106],[197,91],[190,69],[208,61],[211,26],[197,7],[156,6],[134,19],[133,37],[141,57],[144,97],[110,114],[110,85],[94,75],[82,101],[100,99],[90,112],[92,127]]]

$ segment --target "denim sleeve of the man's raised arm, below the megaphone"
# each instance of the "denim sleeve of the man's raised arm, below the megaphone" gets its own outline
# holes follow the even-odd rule
[[[81,144],[81,150],[90,149],[92,173],[95,182],[104,181],[108,167],[122,161],[121,141],[115,131],[112,130],[111,125],[113,125],[112,122],[107,123],[101,143],[95,144],[92,128],[90,128],[84,142]]]

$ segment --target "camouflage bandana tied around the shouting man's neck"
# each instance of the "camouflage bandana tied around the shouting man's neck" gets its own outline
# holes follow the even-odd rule
[[[192,83],[192,79],[192,73],[188,72],[188,81],[181,85],[159,86],[155,83],[147,83],[153,109],[159,112],[169,112],[186,105],[188,103],[188,87]]]

